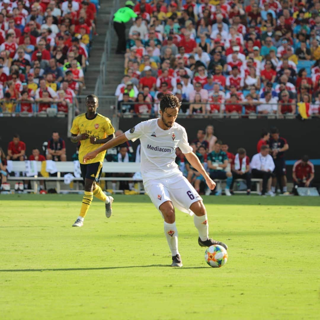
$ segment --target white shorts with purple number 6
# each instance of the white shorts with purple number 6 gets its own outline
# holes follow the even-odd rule
[[[202,200],[196,189],[182,175],[175,175],[172,178],[148,180],[143,186],[158,210],[161,204],[171,201],[174,207],[192,216],[194,213],[189,209],[191,204]],[[160,210],[159,212],[161,213]]]

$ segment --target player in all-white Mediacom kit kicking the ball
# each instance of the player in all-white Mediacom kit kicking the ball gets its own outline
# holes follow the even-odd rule
[[[212,190],[215,188],[215,182],[210,179],[198,157],[192,152],[185,128],[175,122],[180,105],[176,96],[163,95],[160,101],[160,118],[140,122],[132,129],[84,156],[85,163],[86,160],[95,158],[106,149],[128,140],[140,139],[143,185],[151,201],[164,218],[164,233],[172,252],[172,267],[182,267],[174,207],[194,215],[200,246],[209,247],[212,244],[220,244],[228,249],[226,244],[209,238],[208,218],[202,198],[175,163],[175,150],[179,147],[188,162],[205,178],[208,187]]]

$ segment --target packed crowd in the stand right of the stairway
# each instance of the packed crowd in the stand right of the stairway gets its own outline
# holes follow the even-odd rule
[[[319,116],[318,0],[130,3],[119,115],[157,115],[172,92],[190,117]]]

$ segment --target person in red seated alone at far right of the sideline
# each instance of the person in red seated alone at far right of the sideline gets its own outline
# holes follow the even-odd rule
[[[310,187],[315,177],[315,168],[309,157],[303,156],[301,160],[294,163],[292,168],[293,184],[297,187]]]

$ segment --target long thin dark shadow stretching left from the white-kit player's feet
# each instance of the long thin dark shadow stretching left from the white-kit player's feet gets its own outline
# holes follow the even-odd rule
[[[126,269],[126,268],[153,268],[153,267],[170,267],[167,264],[150,264],[148,266],[120,266],[120,267],[100,267],[100,268],[52,268],[52,269],[0,269],[0,272],[42,272],[42,271],[83,271],[83,270],[109,270],[109,269]],[[208,267],[182,267],[181,269],[203,269]],[[179,268],[180,269],[180,268]]]

